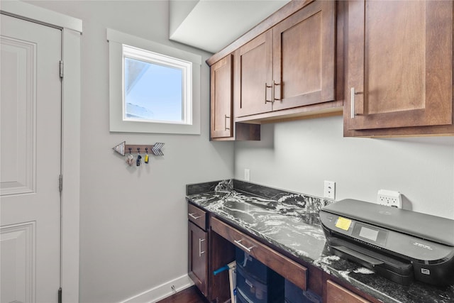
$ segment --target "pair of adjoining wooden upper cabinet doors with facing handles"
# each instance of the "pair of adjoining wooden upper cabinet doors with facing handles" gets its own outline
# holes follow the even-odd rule
[[[314,1],[236,50],[235,116],[333,101],[335,66],[336,2]]]

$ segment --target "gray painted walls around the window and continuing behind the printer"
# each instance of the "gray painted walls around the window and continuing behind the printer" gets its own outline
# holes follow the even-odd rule
[[[167,1],[30,1],[81,18],[82,159],[80,302],[119,302],[187,272],[184,185],[235,175],[336,199],[375,201],[378,189],[404,206],[454,218],[454,138],[343,138],[340,116],[262,126],[262,141],[210,143],[209,69],[201,70],[201,136],[109,133],[106,28],[199,53],[168,40]],[[165,143],[163,158],[126,167],[112,147]]]

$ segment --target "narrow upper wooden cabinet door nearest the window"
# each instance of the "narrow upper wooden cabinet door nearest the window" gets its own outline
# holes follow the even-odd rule
[[[233,137],[233,60],[211,66],[211,138]]]

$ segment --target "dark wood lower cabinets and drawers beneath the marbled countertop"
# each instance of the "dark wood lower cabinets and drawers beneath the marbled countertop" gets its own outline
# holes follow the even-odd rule
[[[214,275],[236,258],[236,247],[265,264],[301,290],[310,290],[326,303],[377,303],[369,294],[345,286],[319,268],[301,265],[287,255],[248,236],[204,210],[189,204],[189,277],[209,302],[229,302],[228,270]],[[336,280],[336,282],[334,282]],[[347,288],[348,287],[348,288]]]

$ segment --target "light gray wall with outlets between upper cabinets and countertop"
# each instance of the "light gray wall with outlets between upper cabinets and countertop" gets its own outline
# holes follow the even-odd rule
[[[376,202],[379,189],[404,195],[404,208],[454,219],[454,138],[343,138],[341,116],[262,126],[261,142],[238,142],[235,177],[336,200]]]

